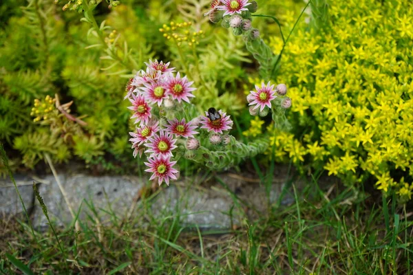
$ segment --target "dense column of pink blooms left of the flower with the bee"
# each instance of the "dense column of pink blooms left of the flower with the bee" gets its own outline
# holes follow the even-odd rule
[[[175,104],[183,102],[189,103],[193,98],[192,87],[186,76],[176,75],[174,68],[169,67],[169,63],[162,61],[149,61],[145,63],[147,68],[140,71],[127,84],[127,95],[131,102],[128,107],[133,114],[136,130],[129,133],[130,142],[134,149],[134,157],[145,152],[148,155],[149,167],[147,171],[153,173],[151,179],[158,178],[158,183],[165,181],[169,185],[169,179],[177,179],[178,170],[173,168],[176,162],[171,160],[173,150],[177,148],[178,137],[193,137],[197,132],[195,127],[182,120],[168,120],[163,123],[165,110],[174,107]]]

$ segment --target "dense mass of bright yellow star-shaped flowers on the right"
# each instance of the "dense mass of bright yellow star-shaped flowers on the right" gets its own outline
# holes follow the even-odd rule
[[[277,82],[290,87],[290,122],[307,131],[273,137],[276,155],[351,184],[374,177],[378,189],[412,199],[413,6],[332,1],[328,13],[317,31],[301,21],[286,46]],[[279,54],[281,39],[270,43]]]

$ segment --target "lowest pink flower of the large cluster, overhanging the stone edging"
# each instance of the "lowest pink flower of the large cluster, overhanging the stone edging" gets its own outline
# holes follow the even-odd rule
[[[167,186],[169,186],[169,179],[178,179],[178,170],[173,168],[175,164],[176,162],[171,162],[170,155],[153,155],[153,158],[150,157],[148,162],[145,162],[145,165],[149,167],[145,171],[153,173],[150,178],[151,180],[158,177],[159,186],[164,180]]]

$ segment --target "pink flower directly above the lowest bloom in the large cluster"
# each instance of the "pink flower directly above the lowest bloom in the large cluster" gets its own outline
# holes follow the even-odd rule
[[[151,155],[172,155],[172,150],[177,148],[175,145],[176,140],[167,131],[160,131],[160,134],[154,133],[151,137],[148,137],[145,146],[149,147],[145,153],[151,153]]]

